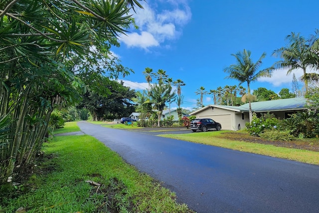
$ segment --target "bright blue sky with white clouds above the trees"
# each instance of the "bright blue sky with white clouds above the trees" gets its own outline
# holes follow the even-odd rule
[[[261,67],[266,68],[279,60],[272,53],[285,46],[288,34],[300,32],[308,38],[319,28],[318,0],[147,0],[143,6],[133,15],[139,29],[122,35],[121,47],[112,48],[135,72],[120,80],[132,89],[146,89],[145,68],[163,69],[173,80],[186,83],[181,90],[186,109],[195,107],[195,91],[201,86],[209,91],[238,85],[225,79],[223,71],[236,62],[232,53],[247,49],[256,61],[266,52]],[[293,75],[286,73],[275,70],[271,78],[252,83],[251,89],[291,89]],[[293,73],[302,75],[301,70]],[[203,104],[213,104],[211,95],[204,96]]]

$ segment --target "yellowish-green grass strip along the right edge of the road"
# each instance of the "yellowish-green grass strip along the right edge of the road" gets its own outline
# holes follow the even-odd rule
[[[196,134],[166,134],[159,136],[319,165],[319,152],[217,138],[216,136],[222,132],[225,131],[197,132]]]

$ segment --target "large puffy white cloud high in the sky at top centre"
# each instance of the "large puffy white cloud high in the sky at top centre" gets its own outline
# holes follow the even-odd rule
[[[191,18],[186,1],[166,0],[142,4],[144,9],[137,8],[136,13],[133,13],[139,29],[120,39],[129,47],[148,49],[175,39],[181,34],[182,26]]]

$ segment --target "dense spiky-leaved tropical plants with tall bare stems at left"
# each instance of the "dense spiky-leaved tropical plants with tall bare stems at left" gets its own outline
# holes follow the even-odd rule
[[[13,0],[0,3],[0,118],[10,117],[1,145],[0,184],[19,175],[40,150],[53,109],[73,105],[108,73],[128,74],[111,56],[133,23],[136,0]]]

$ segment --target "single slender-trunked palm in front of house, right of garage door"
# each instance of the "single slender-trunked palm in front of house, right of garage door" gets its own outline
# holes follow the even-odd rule
[[[250,58],[251,51],[244,49],[243,52],[237,52],[236,54],[232,54],[237,63],[232,64],[229,67],[224,69],[224,72],[229,75],[226,78],[236,79],[239,81],[239,85],[247,82],[248,94],[247,98],[249,101],[249,122],[252,121],[252,111],[251,111],[251,93],[250,93],[250,83],[257,81],[260,77],[271,77],[272,71],[274,67],[271,66],[269,68],[258,71],[259,67],[262,65],[262,60],[266,57],[266,53],[264,52],[260,58],[254,63]]]

